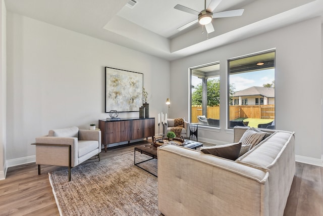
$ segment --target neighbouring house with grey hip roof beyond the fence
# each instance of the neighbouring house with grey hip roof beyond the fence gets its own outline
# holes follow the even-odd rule
[[[230,103],[231,105],[275,104],[275,88],[250,87],[236,92]]]

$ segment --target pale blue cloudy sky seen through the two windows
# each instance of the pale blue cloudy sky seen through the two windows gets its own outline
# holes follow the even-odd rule
[[[230,84],[234,84],[235,92],[249,87],[262,87],[263,84],[272,83],[275,80],[275,69],[253,71],[230,75]],[[201,83],[201,79],[192,76],[192,85]]]

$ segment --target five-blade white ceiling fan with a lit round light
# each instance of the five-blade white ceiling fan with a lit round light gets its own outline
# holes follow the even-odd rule
[[[204,10],[202,10],[201,12],[195,11],[193,9],[187,8],[182,5],[176,5],[174,7],[175,9],[198,16],[198,19],[179,27],[177,30],[181,31],[181,30],[199,22],[202,26],[205,26],[207,33],[211,33],[214,31],[214,27],[211,22],[213,18],[237,17],[237,16],[241,16],[243,14],[244,9],[237,9],[237,10],[232,10],[232,11],[222,11],[222,12],[213,13],[213,11],[218,7],[218,5],[221,3],[221,1],[222,0],[212,0],[210,2],[210,4],[208,5],[208,7],[206,8],[206,0],[204,0]]]

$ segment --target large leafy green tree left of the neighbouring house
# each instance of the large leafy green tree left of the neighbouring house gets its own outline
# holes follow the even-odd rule
[[[234,87],[230,85],[230,97],[234,94]],[[202,83],[199,83],[195,87],[195,91],[192,93],[192,105],[202,105]],[[207,80],[207,106],[219,106],[220,104],[220,79]]]

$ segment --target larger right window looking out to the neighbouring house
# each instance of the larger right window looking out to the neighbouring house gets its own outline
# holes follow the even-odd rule
[[[235,125],[265,127],[273,122],[275,51],[229,59],[228,67],[228,128]]]

